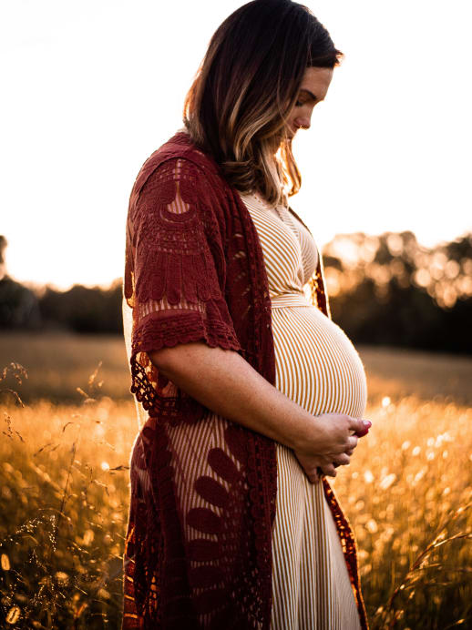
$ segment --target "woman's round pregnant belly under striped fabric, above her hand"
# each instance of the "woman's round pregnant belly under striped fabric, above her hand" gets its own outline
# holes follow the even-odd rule
[[[313,415],[364,415],[362,361],[332,320],[313,306],[272,309],[276,387]]]

